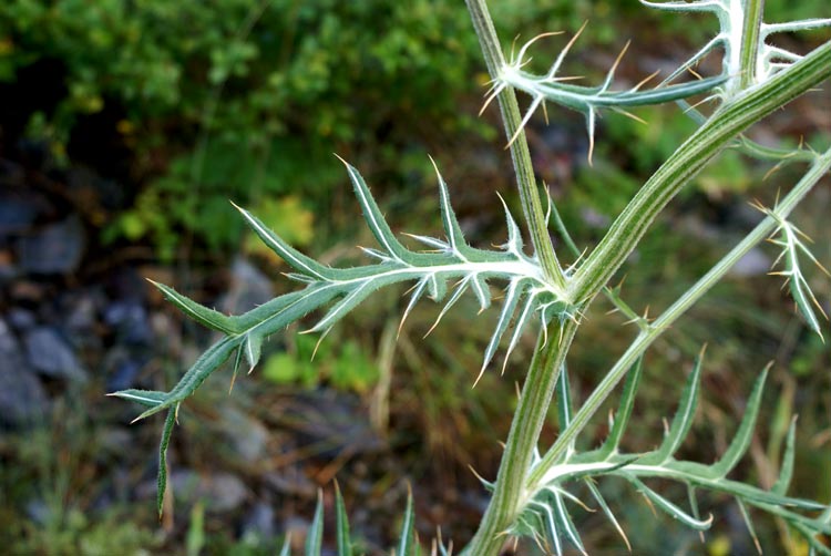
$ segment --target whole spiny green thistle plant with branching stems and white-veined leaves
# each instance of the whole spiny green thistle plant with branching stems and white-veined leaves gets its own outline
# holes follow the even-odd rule
[[[263,342],[269,336],[321,309],[322,316],[307,331],[318,332],[322,339],[345,315],[382,287],[399,282],[411,285],[402,311],[402,323],[424,297],[443,303],[438,322],[465,292],[471,291],[481,309],[485,310],[492,305],[493,290],[500,288],[504,291],[504,299],[484,349],[479,377],[488,371],[500,346],[505,346],[504,359],[507,360],[523,333],[535,331],[537,341],[505,441],[499,473],[495,478],[484,481],[484,487],[491,492],[491,503],[474,538],[462,549],[463,554],[497,554],[512,537],[531,537],[552,554],[562,554],[570,545],[585,553],[573,516],[589,504],[602,509],[609,527],[617,531],[623,543],[629,546],[625,524],[615,516],[614,508],[604,500],[598,487],[599,481],[616,480],[629,484],[654,508],[693,529],[707,531],[712,524],[715,516],[699,512],[697,494],[715,492],[736,501],[746,519],[748,534],[753,539],[753,515],[766,513],[783,521],[791,531],[801,535],[812,553],[831,554],[827,544],[831,536],[831,506],[827,502],[788,495],[796,466],[796,422],[788,431],[781,472],[771,488],[729,477],[750,444],[769,367],[759,370],[747,398],[745,415],[726,452],[715,463],[705,464],[677,456],[701,395],[701,377],[706,372],[704,350],[695,361],[686,385],[677,394],[676,414],[667,425],[664,439],[656,443],[657,447],[643,453],[628,453],[622,443],[633,418],[645,364],[644,353],[743,255],[765,239],[770,238],[781,248],[777,261],[781,268],[777,274],[787,278],[806,325],[822,336],[824,312],[811,292],[800,260],[808,259],[821,265],[811,254],[804,236],[789,218],[794,207],[831,168],[831,150],[815,153],[806,148],[771,148],[753,143],[743,133],[831,75],[831,42],[806,55],[798,55],[769,43],[769,39],[779,32],[829,25],[831,20],[767,24],[762,22],[761,0],[642,3],[677,12],[715,13],[720,31],[655,87],[646,86],[648,80],[644,80],[634,87],[617,91],[614,75],[619,56],[597,86],[575,85],[567,76],[561,75],[563,61],[579,32],[566,43],[546,74],[535,75],[525,70],[533,40],[524,44],[516,55],[505,59],[484,0],[468,0],[473,27],[492,78],[491,90],[485,95],[485,107],[494,101],[500,107],[516,174],[523,223],[531,239],[530,247],[524,246],[523,231],[506,206],[506,241],[495,249],[471,246],[453,212],[451,187],[437,168],[437,203],[444,228],[443,237],[412,235],[411,238],[422,244],[424,249],[408,248],[384,219],[358,169],[345,162],[363,219],[378,241],[378,247],[363,249],[371,262],[352,268],[318,262],[273,234],[267,223],[239,208],[250,228],[293,268],[288,278],[298,282],[298,289],[244,315],[226,316],[196,303],[167,286],[157,285],[184,313],[222,334],[222,339],[207,349],[170,391],[125,390],[114,393],[146,408],[136,420],[166,412],[160,447],[160,512],[167,488],[165,454],[178,409],[226,361],[233,361],[233,381],[244,361],[249,371],[257,365]],[[720,74],[673,83],[717,49],[720,49],[724,60]],[[516,91],[531,97],[524,115],[519,110]],[[694,109],[687,102],[691,97],[704,97],[706,104],[710,105],[709,114]],[[592,145],[596,119],[604,110],[628,112],[646,104],[679,103],[687,107],[691,117],[699,121],[700,126],[640,187],[601,241],[593,248],[581,250],[568,235],[567,223],[560,217],[556,205],[541,194],[531,165],[524,126],[534,111],[540,105],[545,106],[546,102],[583,113]],[[609,280],[673,197],[728,147],[738,147],[759,158],[776,161],[777,165],[804,162],[808,169],[773,207],[759,205],[763,213],[761,222],[669,308],[654,320],[637,317],[623,300],[619,289],[608,287]],[[544,208],[543,200],[547,200],[547,208]],[[571,250],[555,250],[551,226],[562,238],[562,244],[571,247]],[[562,262],[570,259],[573,260],[570,265]],[[568,385],[567,354],[575,339],[578,339],[587,309],[599,294],[605,294],[619,310],[630,316],[638,323],[639,331],[626,351],[599,378],[593,392],[585,399],[577,399]],[[598,447],[583,449],[577,442],[581,433],[622,382],[619,406],[609,418],[607,439]],[[555,403],[558,414],[558,435],[553,444],[541,445],[540,433],[552,403]],[[687,500],[670,500],[667,494],[648,486],[645,481],[649,478],[679,483],[687,488]],[[581,500],[581,495],[586,500]],[[336,502],[338,550],[340,554],[351,554],[349,526],[339,492]],[[418,553],[412,523],[410,504],[397,554]],[[320,554],[321,532],[322,505],[319,503],[306,544],[307,554]],[[433,553],[449,554],[450,548],[435,542]],[[284,554],[288,554],[288,547]]]

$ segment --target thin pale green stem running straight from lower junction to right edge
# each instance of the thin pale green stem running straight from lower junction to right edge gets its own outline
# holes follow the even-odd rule
[[[763,241],[779,226],[779,219],[787,218],[793,208],[804,198],[811,188],[831,169],[831,148],[818,156],[802,179],[793,187],[779,205],[772,210],[776,216],[768,216],[759,223],[753,230],[745,237],[733,249],[718,261],[701,279],[689,288],[678,300],[673,303],[653,326],[643,331],[629,346],[626,352],[618,359],[615,365],[603,378],[594,392],[583,403],[572,420],[568,429],[562,431],[554,445],[543,457],[542,462],[534,467],[529,476],[529,488],[533,490],[542,480],[546,470],[554,465],[557,459],[567,450],[570,443],[583,431],[588,420],[594,416],[603,402],[614,390],[615,385],[624,378],[633,363],[646,349],[669,328],[687,309],[698,301],[707,291],[720,281],[732,266],[743,257],[758,243]]]

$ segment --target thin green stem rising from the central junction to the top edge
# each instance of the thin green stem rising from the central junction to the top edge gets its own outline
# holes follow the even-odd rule
[[[488,73],[491,79],[495,79],[502,66],[505,64],[505,58],[502,54],[496,30],[491,21],[491,14],[484,0],[466,0],[468,10],[470,11],[473,27],[479,37],[479,44],[484,55]],[[516,103],[516,94],[513,89],[505,87],[499,95],[499,105],[502,113],[502,122],[505,126],[505,135],[510,138],[521,128],[522,114]],[[534,167],[531,163],[531,152],[525,140],[525,132],[521,131],[516,138],[511,143],[511,158],[514,164],[516,174],[516,184],[520,189],[520,202],[522,212],[525,215],[525,222],[531,234],[531,241],[534,246],[534,253],[540,259],[540,265],[548,281],[565,290],[565,274],[560,266],[557,256],[554,253],[554,246],[548,236],[545,224],[545,213],[540,199],[540,191],[534,178]]]

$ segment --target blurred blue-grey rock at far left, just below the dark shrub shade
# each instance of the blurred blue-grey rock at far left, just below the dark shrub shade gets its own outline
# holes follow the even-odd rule
[[[69,274],[83,257],[85,233],[78,215],[23,236],[17,241],[18,266],[38,275]]]

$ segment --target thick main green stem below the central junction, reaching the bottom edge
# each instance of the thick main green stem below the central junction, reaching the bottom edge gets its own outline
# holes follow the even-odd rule
[[[555,321],[556,322],[556,321]],[[488,505],[476,535],[462,554],[489,556],[499,554],[505,543],[504,533],[522,511],[525,484],[540,432],[548,414],[548,405],[560,370],[577,331],[577,323],[566,320],[541,332],[531,368],[522,387],[520,404],[514,412],[502,463],[496,475],[493,497]]]

